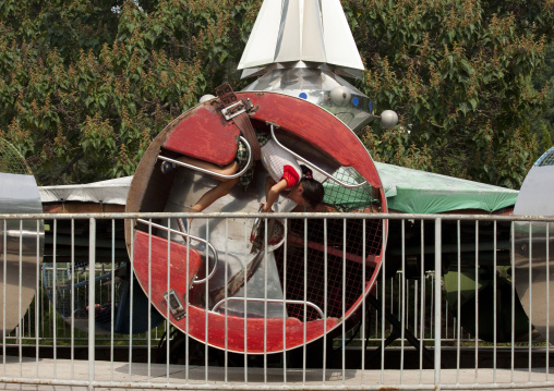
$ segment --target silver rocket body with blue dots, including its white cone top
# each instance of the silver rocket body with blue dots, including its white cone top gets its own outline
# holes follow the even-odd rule
[[[364,68],[339,0],[265,0],[238,69],[261,76],[244,90],[306,99],[357,134],[375,118],[341,77],[361,78]]]

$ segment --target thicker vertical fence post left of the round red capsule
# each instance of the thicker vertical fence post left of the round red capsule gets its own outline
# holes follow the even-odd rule
[[[96,220],[89,219],[88,225],[88,390],[94,386],[95,349],[95,278],[96,278]]]

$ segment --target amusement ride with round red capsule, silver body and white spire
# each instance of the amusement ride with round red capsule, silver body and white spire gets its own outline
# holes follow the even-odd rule
[[[310,167],[325,188],[324,203],[316,209],[304,209],[281,196],[275,204],[276,211],[388,211],[377,169],[357,134],[376,119],[390,127],[398,118],[390,110],[376,115],[370,98],[342,78],[360,76],[363,64],[339,0],[265,0],[239,70],[243,70],[243,77],[258,78],[241,91],[224,85],[217,97],[202,97],[197,106],[156,137],[136,169],[125,211],[186,212],[218,179],[214,172],[177,159],[188,156],[226,166],[234,160],[242,142],[248,146],[249,161],[254,162],[257,142],[249,135],[253,129]],[[178,168],[162,173],[165,161]],[[262,164],[255,164],[254,179],[245,191],[234,186],[205,211],[257,212],[266,174]],[[8,194],[0,196],[2,210],[24,211],[10,209]],[[397,229],[393,222],[388,225],[378,219],[330,219],[326,227],[323,220],[308,219],[304,223],[304,219],[289,219],[287,236],[281,234],[268,248],[252,251],[244,236],[253,223],[249,219],[208,223],[202,217],[192,222],[127,221],[129,257],[119,255],[117,266],[127,282],[118,297],[116,332],[130,331],[127,297],[134,288],[133,332],[167,318],[193,339],[231,352],[275,353],[308,344],[346,322],[371,295],[380,272],[385,272],[382,261],[387,235]],[[21,231],[1,229],[10,235]],[[41,257],[37,248],[43,246],[43,228],[23,231],[33,231],[23,240],[34,241],[35,247],[29,249]],[[12,240],[10,236],[9,242]],[[288,245],[280,245],[285,240]],[[129,276],[129,259],[135,277]],[[67,302],[69,292],[60,286],[74,284],[72,273],[84,276],[86,271],[86,264],[63,269],[62,261],[65,258],[58,260],[58,270],[55,264],[45,264],[43,269],[47,292],[52,300],[57,296],[58,304]],[[525,265],[525,256],[521,261]],[[24,267],[28,265],[36,262],[29,259]],[[309,280],[304,279],[304,265],[309,267]],[[115,272],[107,270],[103,276],[111,279]],[[36,273],[33,270],[28,276]],[[10,270],[8,274],[20,276]],[[99,281],[101,278],[97,277]],[[324,290],[325,279],[328,290]],[[518,292],[525,291],[520,284],[526,282],[517,283]],[[33,294],[34,286],[24,291]],[[146,325],[142,320],[148,311],[148,298],[156,310],[152,310]],[[24,308],[25,303],[19,307]],[[67,319],[77,317],[58,310]],[[7,330],[17,325],[20,313],[7,315]],[[86,316],[83,310],[82,317]],[[521,321],[527,322],[525,314]],[[99,326],[97,330],[110,330]]]

